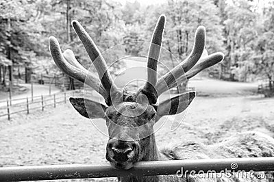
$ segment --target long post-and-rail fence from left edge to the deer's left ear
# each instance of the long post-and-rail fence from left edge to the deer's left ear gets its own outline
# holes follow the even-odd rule
[[[26,97],[23,99],[8,99],[0,102],[0,117],[10,117],[14,114],[29,114],[34,110],[44,111],[45,107],[56,107],[59,103],[66,103],[69,96],[83,96],[82,90],[71,90],[58,94]],[[5,105],[4,105],[5,103]]]

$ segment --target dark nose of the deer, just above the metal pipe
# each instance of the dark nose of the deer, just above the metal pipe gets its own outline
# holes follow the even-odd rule
[[[118,162],[132,161],[138,155],[139,148],[138,142],[110,140],[108,158]]]

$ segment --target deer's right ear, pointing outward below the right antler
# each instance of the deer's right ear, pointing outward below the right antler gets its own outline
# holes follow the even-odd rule
[[[174,96],[171,99],[167,99],[166,101],[162,101],[157,108],[156,121],[162,118],[162,116],[183,112],[194,98],[195,92],[185,92]]]

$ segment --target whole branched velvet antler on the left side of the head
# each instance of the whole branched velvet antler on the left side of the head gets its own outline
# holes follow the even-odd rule
[[[80,25],[77,21],[73,21],[72,25],[75,29],[77,36],[79,36],[80,40],[84,44],[84,47],[88,52],[88,55],[92,60],[92,63],[94,64],[101,81],[97,77],[89,73],[86,68],[79,64],[79,62],[77,62],[73,51],[66,50],[62,54],[58,40],[54,37],[50,37],[49,49],[51,51],[53,60],[55,64],[64,73],[66,73],[66,75],[82,81],[83,83],[85,83],[86,79],[86,83],[88,84],[88,86],[94,88],[97,92],[99,92],[99,94],[101,94],[105,98],[105,103],[111,105],[112,101],[110,99],[110,94],[112,93],[114,94],[114,96],[116,96],[119,90],[114,84],[114,81],[112,81],[112,77],[110,76],[110,73],[108,71],[107,64],[105,63],[105,60],[103,59],[99,49],[96,47],[90,36],[88,36],[88,33],[85,31],[82,25]]]

